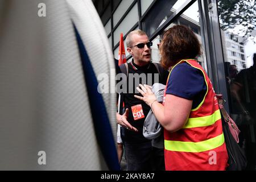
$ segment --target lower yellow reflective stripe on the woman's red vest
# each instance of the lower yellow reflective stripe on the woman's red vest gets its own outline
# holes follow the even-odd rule
[[[164,140],[164,148],[169,151],[177,152],[204,152],[220,147],[225,142],[224,134],[204,140],[202,142],[180,142]]]

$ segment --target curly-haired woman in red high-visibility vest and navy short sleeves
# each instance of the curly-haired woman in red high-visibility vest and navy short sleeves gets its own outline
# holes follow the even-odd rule
[[[161,64],[172,68],[163,104],[150,86],[139,85],[142,97],[164,127],[166,170],[225,170],[228,154],[222,133],[221,114],[212,83],[196,61],[201,45],[185,26],[164,34]]]

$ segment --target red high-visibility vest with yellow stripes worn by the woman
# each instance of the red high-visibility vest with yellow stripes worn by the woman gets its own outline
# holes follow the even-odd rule
[[[221,114],[212,83],[197,61],[181,60],[177,64],[180,63],[188,63],[203,73],[207,92],[199,106],[191,110],[188,121],[182,129],[174,133],[164,130],[166,170],[225,170],[228,154],[222,132]]]

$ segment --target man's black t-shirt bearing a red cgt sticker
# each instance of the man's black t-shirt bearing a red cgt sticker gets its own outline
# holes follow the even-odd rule
[[[163,70],[162,67],[159,66],[159,72],[161,73],[161,76],[159,76],[158,70],[156,69],[155,65],[153,63],[148,63],[147,65],[144,65],[142,67],[139,67],[138,65],[136,65],[134,63],[134,60],[131,61],[131,63],[128,63],[128,72],[129,72],[129,76],[127,77],[127,93],[123,94],[124,95],[124,102],[125,102],[125,109],[128,108],[129,109],[129,116],[127,118],[127,121],[129,121],[129,123],[136,127],[138,129],[138,132],[134,132],[134,131],[130,131],[127,129],[122,128],[122,139],[125,142],[129,142],[129,143],[141,143],[141,142],[145,142],[148,141],[146,138],[144,138],[142,132],[143,132],[143,123],[144,120],[147,117],[148,112],[150,111],[150,106],[148,106],[145,102],[137,99],[134,97],[134,95],[138,95],[138,96],[142,96],[140,93],[137,92],[136,87],[139,86],[138,83],[135,83],[135,80],[132,79],[130,76],[134,76],[135,77],[135,73],[137,73],[139,76],[142,76],[142,74],[144,73],[146,82],[143,81],[142,78],[139,79],[139,84],[147,84],[147,85],[153,85],[155,82],[159,82],[161,84],[166,85],[166,81],[168,78],[168,71]],[[150,74],[151,73],[151,74]],[[154,76],[154,74],[157,74],[158,76]],[[158,77],[158,78],[157,78]],[[133,81],[133,84],[131,84],[131,81]],[[135,85],[137,84],[137,85]],[[129,86],[133,85],[133,92],[129,93]],[[136,90],[136,93],[135,93]],[[142,112],[141,109],[138,110],[138,115],[137,115],[137,111],[135,111],[135,109],[133,109],[131,107],[136,107],[138,105],[142,106]],[[134,118],[135,115],[135,118]],[[137,117],[139,116],[139,117]]]

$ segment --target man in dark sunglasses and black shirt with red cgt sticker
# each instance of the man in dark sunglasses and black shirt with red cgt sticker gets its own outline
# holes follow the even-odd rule
[[[143,101],[134,97],[134,94],[140,96],[135,88],[134,79],[130,78],[146,75],[146,83],[139,80],[140,84],[153,85],[155,82],[166,84],[168,71],[164,71],[160,64],[151,62],[151,46],[148,36],[141,30],[130,32],[126,38],[127,51],[133,56],[133,59],[127,65],[120,66],[121,71],[127,76],[127,90],[133,85],[133,92],[122,93],[125,102],[125,113],[117,113],[117,122],[121,127],[121,137],[125,146],[125,157],[128,171],[139,170],[164,170],[164,151],[163,148],[153,147],[151,140],[143,136],[143,123],[147,117],[150,107]],[[158,78],[154,77],[158,74]],[[136,79],[136,77],[135,77]]]

